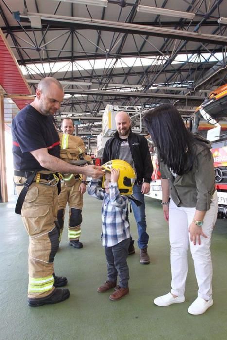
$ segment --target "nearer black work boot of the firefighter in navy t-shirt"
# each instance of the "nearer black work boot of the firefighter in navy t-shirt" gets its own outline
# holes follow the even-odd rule
[[[58,304],[70,296],[70,291],[67,288],[55,288],[54,291],[44,298],[28,298],[28,305],[31,307],[39,307],[42,305]]]

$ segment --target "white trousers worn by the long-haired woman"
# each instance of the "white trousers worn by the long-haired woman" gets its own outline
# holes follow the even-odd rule
[[[188,227],[191,224],[195,208],[177,207],[170,200],[169,205],[169,236],[171,262],[171,293],[184,295],[185,282],[188,273],[188,248],[194,261],[195,275],[198,283],[198,297],[210,300],[212,296],[212,261],[210,255],[210,241],[212,230],[217,220],[218,200],[215,192],[210,203],[210,209],[203,219],[203,232],[208,238],[201,236],[201,244],[190,241]]]

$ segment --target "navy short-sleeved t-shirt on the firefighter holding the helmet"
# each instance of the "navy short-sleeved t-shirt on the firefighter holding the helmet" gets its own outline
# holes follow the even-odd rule
[[[47,148],[60,157],[59,136],[51,116],[44,116],[31,105],[22,109],[12,121],[15,170],[44,170],[30,151]]]

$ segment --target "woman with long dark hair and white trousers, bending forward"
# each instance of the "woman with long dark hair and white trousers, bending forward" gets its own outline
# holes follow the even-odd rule
[[[169,306],[185,301],[190,246],[199,290],[188,312],[203,314],[213,305],[210,240],[218,209],[210,143],[190,133],[171,104],[147,111],[143,121],[158,153],[171,245],[171,291],[154,303]]]

